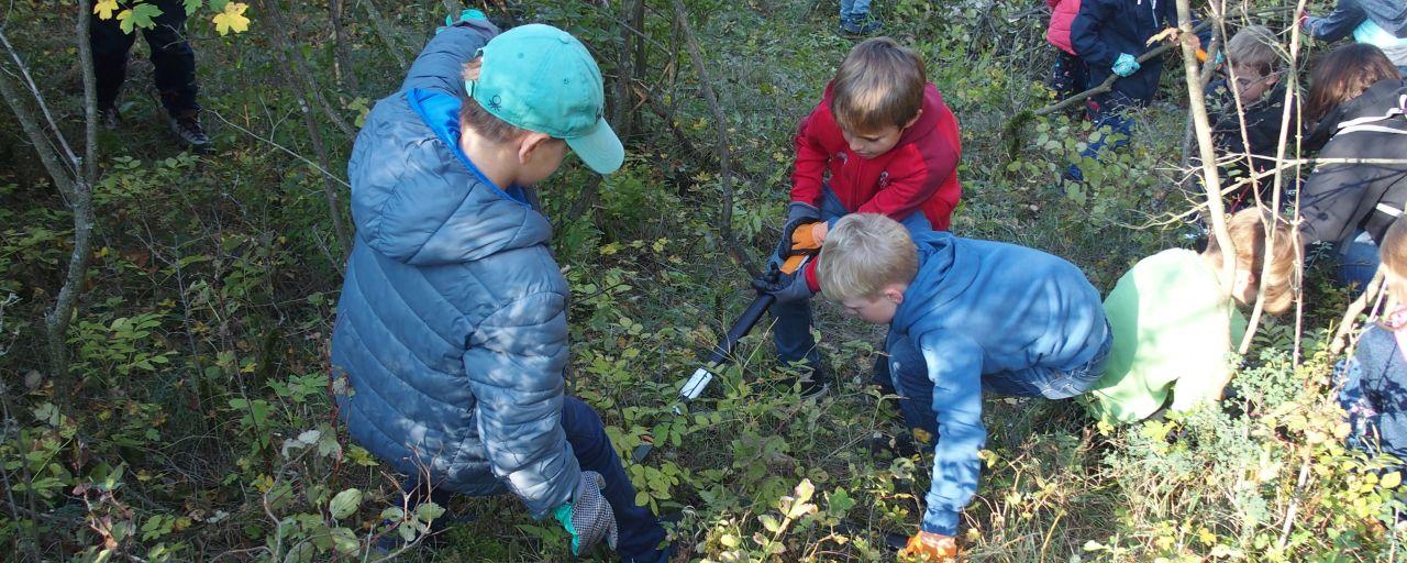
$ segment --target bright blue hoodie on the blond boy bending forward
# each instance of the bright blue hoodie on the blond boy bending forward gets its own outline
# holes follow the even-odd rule
[[[986,443],[982,376],[1089,363],[1107,338],[1104,308],[1075,265],[1048,253],[950,232],[913,242],[919,273],[891,331],[919,348],[933,381],[938,439],[923,529],[954,535]]]

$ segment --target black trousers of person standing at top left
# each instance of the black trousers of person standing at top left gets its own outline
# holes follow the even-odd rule
[[[186,8],[179,0],[149,0],[162,8],[152,21],[156,27],[139,30],[152,49],[152,65],[156,66],[156,90],[162,104],[172,115],[198,111],[196,104],[196,52],[186,42]],[[125,8],[127,6],[124,6]],[[97,75],[97,106],[113,107],[117,93],[127,79],[127,56],[136,42],[136,34],[122,32],[117,17],[111,20],[93,18],[93,72]]]

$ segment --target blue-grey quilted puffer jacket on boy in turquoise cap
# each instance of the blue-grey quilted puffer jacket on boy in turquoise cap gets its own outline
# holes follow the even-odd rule
[[[377,457],[454,493],[507,486],[542,517],[580,476],[560,424],[568,294],[547,221],[459,149],[460,68],[494,34],[442,30],[357,135],[332,369]]]

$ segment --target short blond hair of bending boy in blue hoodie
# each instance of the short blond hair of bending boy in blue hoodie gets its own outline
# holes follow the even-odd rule
[[[872,300],[885,286],[908,284],[919,273],[919,251],[909,231],[877,213],[841,217],[817,260],[816,280],[832,301]]]

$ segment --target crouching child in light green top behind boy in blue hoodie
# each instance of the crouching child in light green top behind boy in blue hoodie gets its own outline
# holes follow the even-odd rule
[[[1268,225],[1275,225],[1269,253]],[[1233,374],[1231,350],[1245,334],[1237,305],[1255,303],[1265,286],[1265,312],[1290,307],[1299,276],[1294,228],[1271,210],[1249,208],[1233,215],[1227,229],[1234,272],[1224,272],[1223,249],[1211,238],[1202,253],[1162,251],[1119,279],[1104,298],[1114,348],[1104,376],[1086,396],[1090,414],[1106,422],[1135,422],[1162,410],[1169,394],[1172,411],[1220,400]]]

